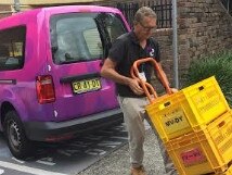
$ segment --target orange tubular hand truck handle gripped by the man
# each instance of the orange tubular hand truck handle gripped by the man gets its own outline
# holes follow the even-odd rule
[[[139,83],[141,84],[150,103],[152,103],[154,101],[154,98],[157,98],[157,93],[155,91],[155,89],[152,87],[152,85],[150,85],[149,83],[142,80],[139,76],[139,65],[145,62],[152,62],[154,65],[154,68],[157,71],[157,74],[159,76],[159,79],[163,84],[163,86],[165,87],[165,90],[168,95],[172,93],[171,88],[169,87],[169,83],[164,74],[164,72],[162,71],[162,68],[159,67],[158,63],[155,61],[154,58],[145,58],[145,59],[140,59],[134,61],[131,70],[130,70],[130,74],[131,77],[134,79],[139,79]]]

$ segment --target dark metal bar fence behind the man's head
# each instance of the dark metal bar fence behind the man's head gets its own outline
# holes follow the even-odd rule
[[[170,28],[171,27],[171,0],[156,0],[145,1],[143,3],[117,3],[117,8],[124,13],[130,26],[133,23],[133,16],[140,7],[147,5],[152,8],[157,14],[157,27],[158,28]]]

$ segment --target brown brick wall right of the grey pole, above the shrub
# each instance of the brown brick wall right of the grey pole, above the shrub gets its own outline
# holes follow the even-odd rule
[[[220,0],[178,0],[178,27],[180,76],[191,60],[232,49],[232,16]]]

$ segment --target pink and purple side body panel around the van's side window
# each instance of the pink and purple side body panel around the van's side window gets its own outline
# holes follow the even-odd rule
[[[43,34],[44,13],[33,11],[3,20],[1,27],[26,26],[24,66],[21,70],[0,71],[0,79],[14,79],[15,84],[1,84],[1,104],[11,103],[21,120],[54,121],[53,104],[39,104],[36,93],[36,76],[47,74],[47,59]]]

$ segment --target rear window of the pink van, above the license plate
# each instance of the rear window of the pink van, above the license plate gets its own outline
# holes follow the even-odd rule
[[[51,17],[51,47],[56,64],[102,59],[106,42],[126,27],[113,13],[69,13]]]

